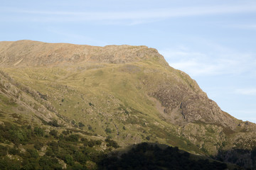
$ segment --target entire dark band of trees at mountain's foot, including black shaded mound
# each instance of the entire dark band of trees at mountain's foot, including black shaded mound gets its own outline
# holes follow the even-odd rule
[[[117,157],[119,147],[107,137],[92,140],[72,130],[45,130],[31,125],[0,125],[1,170],[102,169],[227,169],[227,164],[194,157],[178,147],[161,149],[156,144],[135,145]],[[106,147],[103,152],[101,147]],[[191,156],[192,155],[192,156]]]

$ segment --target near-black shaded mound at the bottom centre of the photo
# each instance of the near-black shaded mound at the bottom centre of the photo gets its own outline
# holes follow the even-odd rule
[[[99,169],[242,169],[239,166],[198,157],[178,147],[143,142],[126,152],[115,152],[98,163]]]

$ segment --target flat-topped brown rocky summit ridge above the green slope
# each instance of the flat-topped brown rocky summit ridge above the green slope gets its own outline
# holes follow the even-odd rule
[[[146,46],[97,47],[32,40],[0,42],[0,65],[2,67],[54,67],[85,62],[119,64],[151,59],[168,65],[156,49]]]

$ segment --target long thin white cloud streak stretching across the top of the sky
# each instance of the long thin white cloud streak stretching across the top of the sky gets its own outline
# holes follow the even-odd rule
[[[179,8],[158,8],[144,11],[33,11],[18,8],[1,8],[1,13],[20,13],[19,18],[27,21],[117,21],[117,20],[157,20],[174,17],[220,15],[227,13],[255,13],[256,4],[188,6]],[[24,16],[23,16],[24,15]],[[6,18],[6,19],[5,19]],[[1,17],[1,20],[11,16]],[[14,18],[13,18],[14,19]]]

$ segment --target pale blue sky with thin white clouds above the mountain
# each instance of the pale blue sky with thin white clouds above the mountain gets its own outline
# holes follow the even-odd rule
[[[146,45],[256,123],[255,0],[0,0],[0,41]]]

